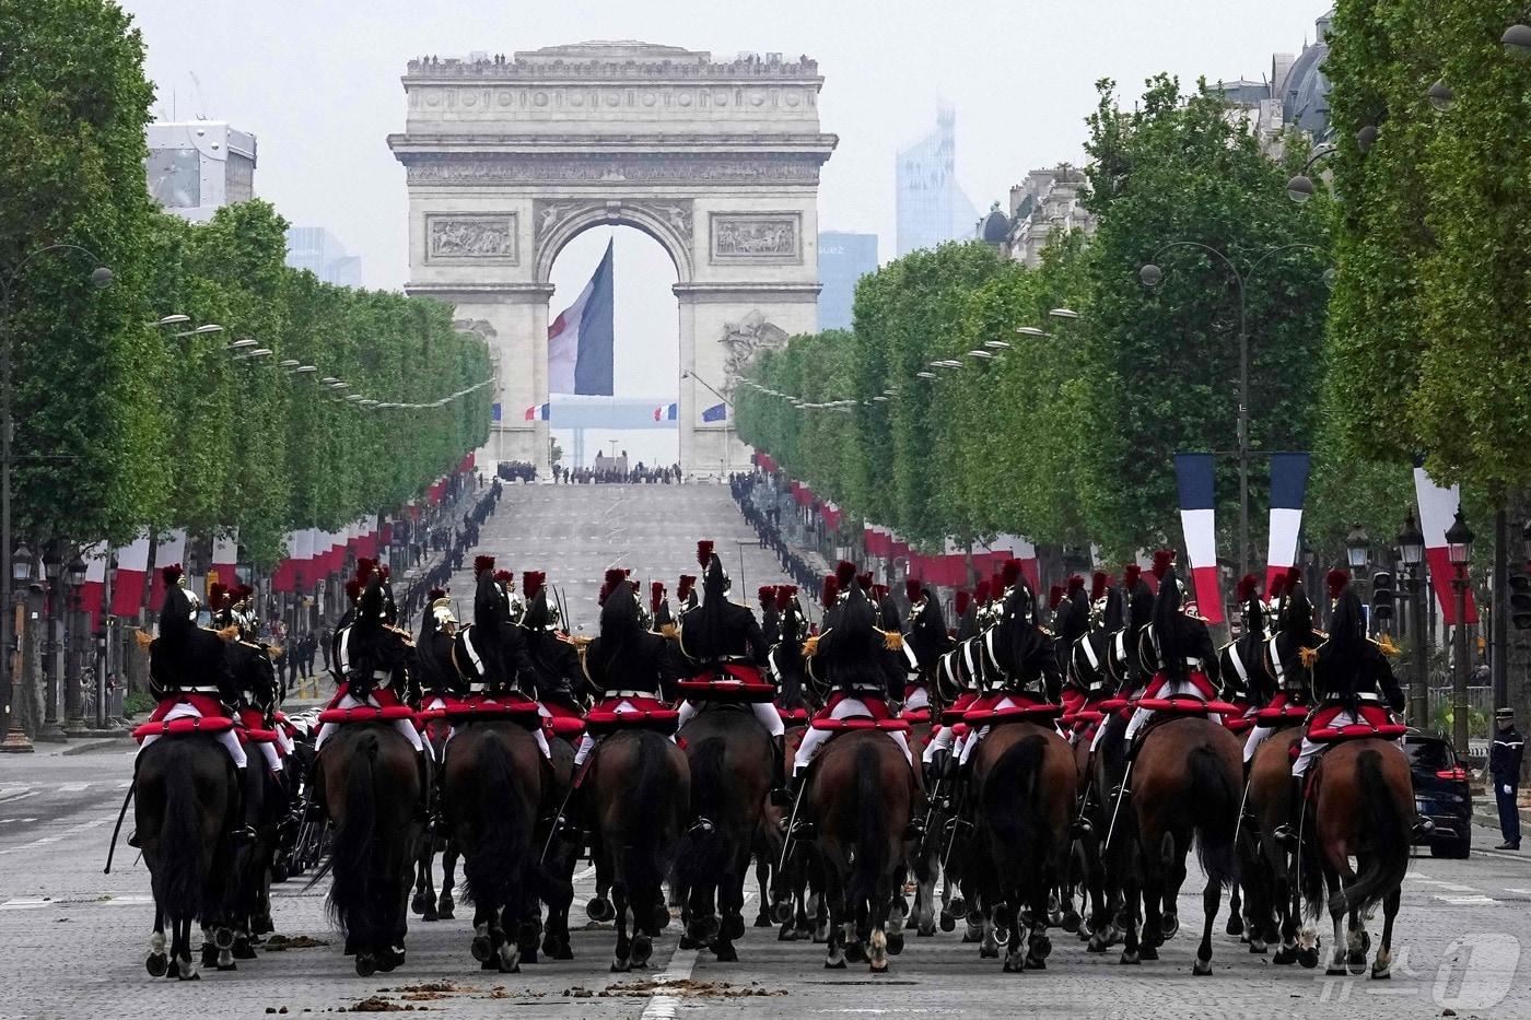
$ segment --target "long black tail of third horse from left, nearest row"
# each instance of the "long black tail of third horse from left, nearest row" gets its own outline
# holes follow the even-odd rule
[[[531,812],[511,749],[493,729],[479,741],[473,780],[478,784],[472,795],[478,845],[462,864],[462,881],[473,902],[502,907],[510,902],[516,876],[525,868],[531,835],[524,819]]]

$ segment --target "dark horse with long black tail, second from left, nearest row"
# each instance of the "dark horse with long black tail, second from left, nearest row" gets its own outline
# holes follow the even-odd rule
[[[416,757],[390,723],[346,723],[318,757],[335,829],[329,911],[361,977],[404,962],[406,901],[424,835]]]

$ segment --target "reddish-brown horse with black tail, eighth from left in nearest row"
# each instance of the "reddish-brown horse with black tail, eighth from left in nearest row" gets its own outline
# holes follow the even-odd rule
[[[1220,723],[1202,717],[1170,718],[1144,735],[1131,773],[1136,867],[1124,876],[1128,919],[1122,963],[1157,959],[1157,946],[1179,930],[1174,904],[1194,836],[1206,887],[1202,891],[1205,924],[1193,973],[1213,973],[1213,920],[1223,885],[1237,878],[1234,830],[1242,775],[1243,747]],[[1122,835],[1118,832],[1115,838]],[[1141,945],[1139,919],[1133,916],[1139,896],[1144,911]]]

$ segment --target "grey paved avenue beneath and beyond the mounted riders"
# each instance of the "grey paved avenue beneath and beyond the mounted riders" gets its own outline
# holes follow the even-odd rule
[[[570,594],[576,616],[589,622],[596,579],[609,562],[620,557],[645,577],[672,580],[689,568],[698,535],[720,545],[746,535],[718,487],[513,489],[508,504],[484,531],[488,550],[517,571],[580,577],[570,580]],[[746,554],[752,588],[775,580],[764,570],[769,562]],[[736,564],[733,557],[735,570]],[[459,591],[467,591],[465,580]],[[352,1009],[374,995],[395,1008],[461,1017],[559,1020],[1298,1012],[1349,1020],[1439,1017],[1444,1008],[1462,1017],[1531,1014],[1531,969],[1520,966],[1520,948],[1531,945],[1531,861],[1493,852],[1470,861],[1413,862],[1395,979],[1386,983],[1277,968],[1226,936],[1219,936],[1213,977],[1191,977],[1190,928],[1200,910],[1194,876],[1180,904],[1182,934],[1157,963],[1138,968],[1118,966],[1115,953],[1089,956],[1055,933],[1046,973],[1006,976],[997,960],[978,960],[974,946],[942,934],[909,937],[893,971],[874,979],[865,968],[825,971],[818,946],[776,942],[772,930],[752,928],[739,943],[741,960],[721,965],[706,954],[677,953],[672,927],[646,974],[617,976],[606,971],[609,928],[591,927],[574,933],[574,960],[502,976],[478,969],[468,956],[468,922],[459,916],[413,924],[404,968],[358,979],[325,919],[323,890],[288,882],[277,888],[279,931],[329,945],[263,953],[237,973],[207,974],[196,985],[153,980],[142,968],[152,920],[149,876],[132,852],[119,855],[110,876],[101,875],[130,772],[132,755],[121,744],[73,757],[0,758],[0,1017],[262,1017],[283,1008],[292,1015]],[[1496,841],[1487,830],[1474,833],[1479,847]],[[576,901],[589,893],[591,878],[582,875]],[[444,991],[398,991],[426,982]]]

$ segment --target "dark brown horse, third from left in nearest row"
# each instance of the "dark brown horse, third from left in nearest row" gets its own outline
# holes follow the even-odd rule
[[[534,835],[542,752],[519,723],[458,723],[442,772],[446,818],[462,848],[475,907],[473,959],[484,969],[516,974],[521,956],[537,946]],[[507,927],[514,937],[507,939]]]

